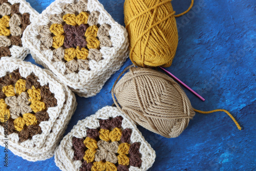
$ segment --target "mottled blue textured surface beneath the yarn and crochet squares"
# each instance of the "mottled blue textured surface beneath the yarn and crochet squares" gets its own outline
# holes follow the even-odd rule
[[[124,25],[124,0],[99,1],[118,23]],[[28,2],[40,13],[53,0]],[[174,0],[172,4],[180,13],[188,8],[190,0]],[[227,109],[243,129],[239,131],[225,113],[196,114],[181,136],[174,139],[138,126],[156,151],[157,158],[151,170],[256,170],[255,8],[255,0],[195,0],[193,9],[177,18],[179,46],[168,71],[206,99],[202,102],[185,90],[194,108]],[[30,55],[25,60],[35,63]],[[113,82],[130,64],[127,60],[97,96],[77,96],[77,110],[66,134],[78,120],[112,104]],[[0,152],[0,168],[4,168],[3,147]],[[9,152],[8,170],[17,169],[59,170],[54,158],[29,162]]]

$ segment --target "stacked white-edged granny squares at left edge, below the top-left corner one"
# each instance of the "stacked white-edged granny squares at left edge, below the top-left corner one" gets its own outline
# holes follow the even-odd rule
[[[76,108],[74,94],[56,80],[30,62],[0,60],[0,145],[29,161],[53,156]]]

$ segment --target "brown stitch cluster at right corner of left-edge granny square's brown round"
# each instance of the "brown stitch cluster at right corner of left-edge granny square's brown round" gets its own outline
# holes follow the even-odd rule
[[[54,107],[57,105],[57,99],[54,97],[52,92],[50,91],[49,86],[42,86],[40,88],[41,101],[44,101],[47,108]]]

